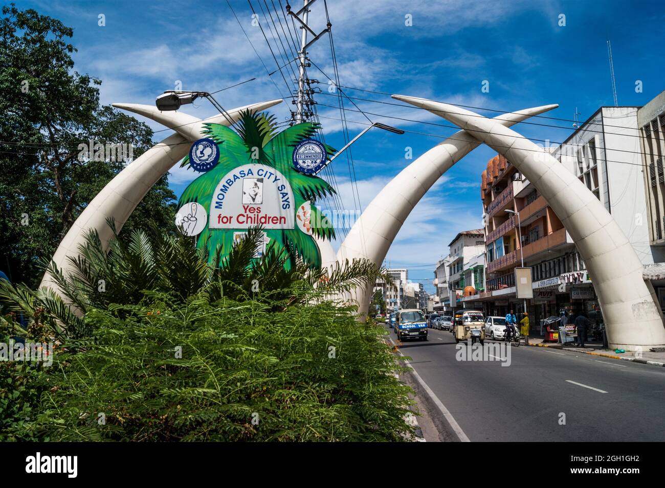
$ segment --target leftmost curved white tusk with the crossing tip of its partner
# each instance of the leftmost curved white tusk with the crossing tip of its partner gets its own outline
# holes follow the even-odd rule
[[[270,100],[269,102],[247,105],[229,110],[229,114],[231,115],[231,120],[235,122],[239,120],[243,110],[249,109],[260,112],[279,104],[281,101]],[[136,205],[146,196],[146,193],[178,161],[187,155],[192,142],[203,136],[202,129],[204,122],[229,125],[229,122],[221,114],[200,120],[187,114],[160,112],[148,105],[114,104],[114,106],[164,123],[170,129],[176,130],[176,133],[166,137],[166,139],[157,143],[127,165],[114,179],[108,182],[102,191],[81,212],[65,238],[60,242],[55,254],[53,254],[53,258],[51,258],[57,264],[58,268],[61,268],[65,272],[65,276],[70,271],[70,263],[66,257],[78,256],[78,248],[84,243],[85,236],[90,230],[96,230],[102,246],[105,249],[108,248],[108,242],[113,237],[113,234],[108,224],[106,224],[106,219],[113,218],[116,229],[120,232],[120,229],[122,229],[122,226],[124,226],[134,208],[136,208]],[[49,274],[44,275],[40,284],[41,286],[51,287],[59,292],[57,284],[53,282]]]

